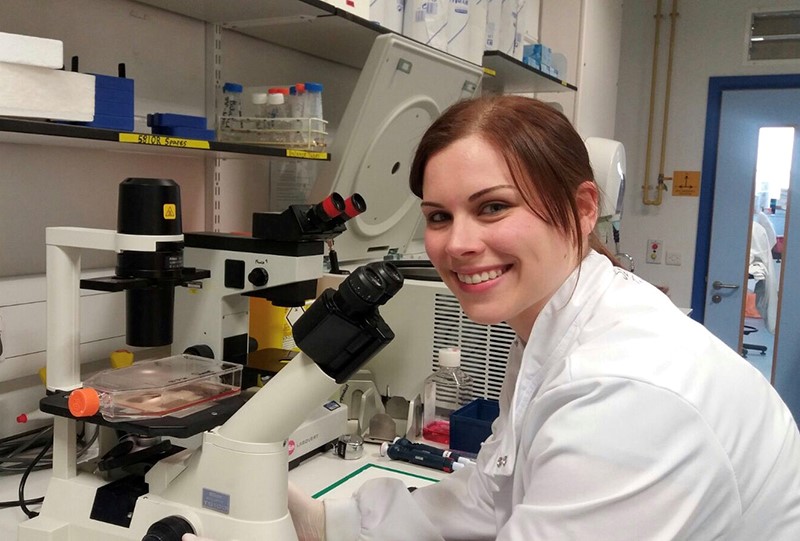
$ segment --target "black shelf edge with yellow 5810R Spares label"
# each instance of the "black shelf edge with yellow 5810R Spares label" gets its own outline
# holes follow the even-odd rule
[[[324,150],[305,148],[278,148],[265,145],[225,141],[203,141],[150,133],[119,132],[86,126],[0,117],[0,142],[79,146],[82,148],[113,148],[147,153],[184,154],[212,152],[219,157],[253,155],[276,158],[330,160]]]

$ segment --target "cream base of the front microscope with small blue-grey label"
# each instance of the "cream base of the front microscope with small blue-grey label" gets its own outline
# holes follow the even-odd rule
[[[202,537],[297,541],[286,505],[287,477],[285,442],[253,444],[210,431],[201,450],[157,463],[141,480],[146,485],[134,481],[117,490],[118,481],[83,471],[54,477],[41,514],[20,524],[18,537],[140,541],[154,523],[180,517]]]

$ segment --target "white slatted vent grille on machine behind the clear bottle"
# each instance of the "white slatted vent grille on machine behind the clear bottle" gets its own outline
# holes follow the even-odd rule
[[[439,368],[439,350],[461,348],[461,368],[474,379],[475,396],[500,397],[514,331],[505,323],[478,325],[461,310],[455,296],[436,293],[433,301],[433,370]]]

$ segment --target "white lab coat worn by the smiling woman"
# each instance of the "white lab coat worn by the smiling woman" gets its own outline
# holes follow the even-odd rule
[[[590,253],[515,344],[475,467],[325,503],[327,541],[800,539],[800,434],[770,384]]]

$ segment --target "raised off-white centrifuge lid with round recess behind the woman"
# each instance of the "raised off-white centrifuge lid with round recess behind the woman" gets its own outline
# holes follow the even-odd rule
[[[405,251],[422,219],[408,187],[417,142],[442,111],[476,94],[482,75],[480,66],[406,37],[375,39],[310,194],[358,192],[367,200],[335,241],[341,262]]]

